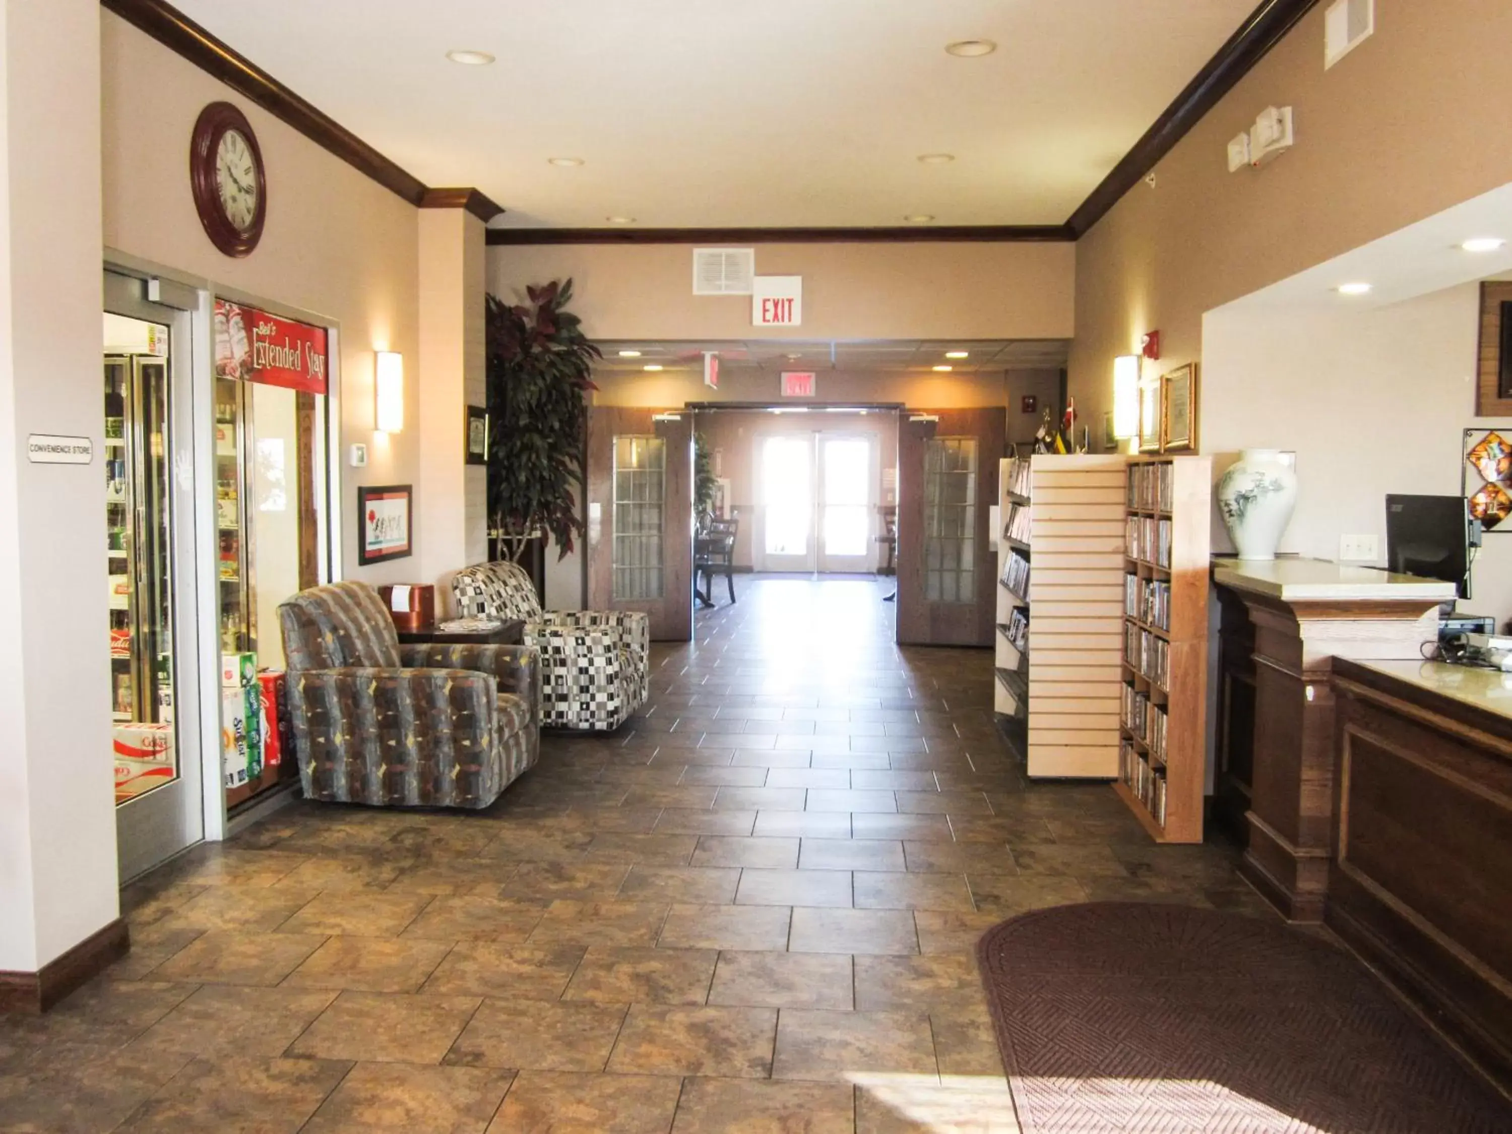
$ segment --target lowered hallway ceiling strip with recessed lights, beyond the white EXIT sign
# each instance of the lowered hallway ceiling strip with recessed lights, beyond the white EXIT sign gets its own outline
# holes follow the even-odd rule
[[[934,366],[950,366],[953,373],[978,370],[1061,367],[1066,364],[1069,342],[1064,339],[1021,339],[1013,342],[943,342],[919,339],[874,339],[866,342],[830,342],[813,339],[750,342],[600,342],[600,370],[627,372],[646,366],[661,366],[668,372],[702,369],[703,352],[720,355],[724,370],[845,370],[866,372],[931,372]],[[620,351],[640,351],[638,357],[621,358]],[[947,351],[966,351],[966,358],[947,358]]]

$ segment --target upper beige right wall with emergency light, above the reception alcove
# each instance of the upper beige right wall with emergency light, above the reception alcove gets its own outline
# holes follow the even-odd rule
[[[1325,8],[1078,242],[1070,392],[1087,420],[1143,331],[1163,334],[1160,370],[1199,358],[1210,308],[1512,181],[1512,5],[1377,0],[1374,36],[1326,73]],[[1294,107],[1296,148],[1228,174],[1225,142],[1266,106]],[[1204,423],[1219,381],[1204,375]]]

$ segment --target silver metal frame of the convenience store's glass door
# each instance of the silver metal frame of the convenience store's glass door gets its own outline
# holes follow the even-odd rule
[[[218,659],[210,665],[204,661],[206,638],[210,649],[215,649],[218,635],[204,634],[201,617],[206,567],[201,546],[207,534],[201,507],[204,500],[200,497],[207,496],[210,507],[215,505],[213,479],[197,475],[201,429],[197,422],[195,369],[197,358],[204,352],[203,328],[194,318],[198,302],[192,293],[174,292],[150,301],[142,284],[142,280],[106,266],[101,310],[168,327],[165,363],[171,429],[172,699],[178,776],[171,783],[116,804],[116,860],[121,881],[129,881],[203,841],[210,827],[206,780],[219,785],[219,777],[210,774],[210,756],[219,756],[219,720],[218,717],[206,720],[207,674],[215,671]],[[210,491],[203,493],[201,484],[212,485]],[[213,556],[209,562],[213,562]],[[212,621],[210,626],[218,623]],[[207,748],[210,736],[216,741],[213,748]]]

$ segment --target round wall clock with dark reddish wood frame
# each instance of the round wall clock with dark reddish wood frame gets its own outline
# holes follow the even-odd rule
[[[262,239],[268,180],[257,135],[237,107],[210,103],[189,144],[189,187],[200,224],[227,256],[246,256]]]

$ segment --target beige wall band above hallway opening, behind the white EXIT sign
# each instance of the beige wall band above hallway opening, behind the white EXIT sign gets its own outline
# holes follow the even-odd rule
[[[692,293],[692,245],[502,245],[488,289],[572,278],[591,339],[1067,339],[1070,243],[771,243],[759,275],[803,277],[803,327],[756,331],[750,296]]]

